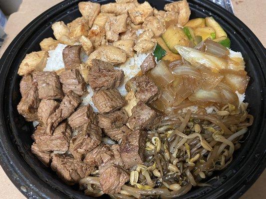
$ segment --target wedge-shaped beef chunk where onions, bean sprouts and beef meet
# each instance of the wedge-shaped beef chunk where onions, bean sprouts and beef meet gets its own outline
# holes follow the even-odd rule
[[[161,114],[149,107],[143,101],[139,101],[132,108],[132,115],[128,118],[128,127],[132,130],[151,129],[161,120]]]

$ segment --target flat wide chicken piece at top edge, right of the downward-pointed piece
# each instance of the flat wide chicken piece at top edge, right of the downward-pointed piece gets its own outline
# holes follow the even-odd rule
[[[127,14],[128,10],[135,7],[135,3],[108,3],[101,6],[101,12],[115,15]]]

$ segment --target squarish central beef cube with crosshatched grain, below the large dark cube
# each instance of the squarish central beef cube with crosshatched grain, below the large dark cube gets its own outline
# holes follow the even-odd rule
[[[126,104],[125,99],[117,90],[103,90],[94,93],[92,102],[100,113],[118,110]]]

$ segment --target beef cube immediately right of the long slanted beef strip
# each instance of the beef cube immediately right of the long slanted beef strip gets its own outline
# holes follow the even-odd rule
[[[68,123],[72,129],[78,129],[85,123],[97,124],[97,115],[93,112],[90,104],[79,107],[73,114],[68,118]]]

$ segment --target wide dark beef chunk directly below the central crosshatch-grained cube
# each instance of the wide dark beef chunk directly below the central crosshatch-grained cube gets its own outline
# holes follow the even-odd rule
[[[127,119],[128,116],[125,110],[98,114],[99,126],[106,129],[119,128],[127,122]]]

